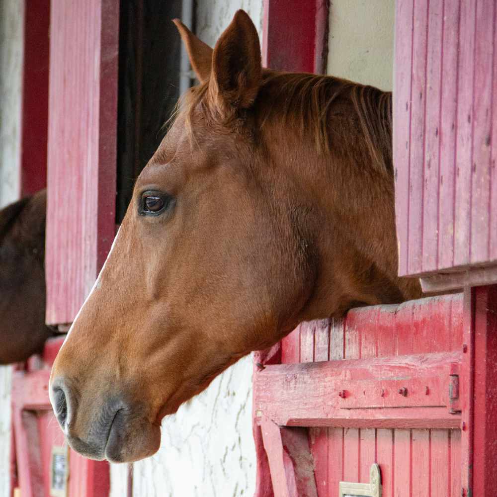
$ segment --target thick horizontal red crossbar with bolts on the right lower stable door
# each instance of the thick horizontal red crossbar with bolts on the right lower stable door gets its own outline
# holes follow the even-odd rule
[[[426,411],[426,419],[436,413],[436,423],[441,423],[437,426],[457,426],[456,416],[422,407],[448,406],[450,365],[460,362],[461,355],[450,352],[266,366],[254,385],[255,409],[280,425],[313,426],[314,422],[315,426],[375,427],[384,426],[393,415],[392,422],[403,418],[408,426],[416,424],[417,416]],[[407,388],[407,395],[398,392],[401,388]],[[351,422],[359,419],[362,424]]]

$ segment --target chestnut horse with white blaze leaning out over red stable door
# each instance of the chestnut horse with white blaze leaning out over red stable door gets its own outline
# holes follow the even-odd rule
[[[304,320],[421,295],[397,277],[391,94],[262,69],[239,11],[138,178],[52,370],[82,454],[153,454],[161,420]]]

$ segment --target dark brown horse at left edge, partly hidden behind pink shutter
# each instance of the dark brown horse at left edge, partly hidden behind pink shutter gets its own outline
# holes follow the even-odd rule
[[[0,211],[0,364],[40,352],[45,326],[45,190]]]

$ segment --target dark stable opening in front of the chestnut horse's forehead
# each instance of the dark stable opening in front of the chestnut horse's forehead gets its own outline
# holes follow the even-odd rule
[[[179,97],[181,0],[121,0],[116,223],[133,184],[166,133]]]

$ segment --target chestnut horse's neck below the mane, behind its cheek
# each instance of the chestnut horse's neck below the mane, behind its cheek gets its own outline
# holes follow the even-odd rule
[[[321,296],[305,318],[340,315],[359,303],[394,303],[421,295],[417,281],[397,277],[391,167],[373,166],[365,145],[357,143],[357,134],[349,135],[342,126],[336,129],[330,130],[326,153],[295,133],[286,134],[284,141],[272,137],[271,155],[279,158],[299,195],[316,213],[310,229],[321,253]]]

